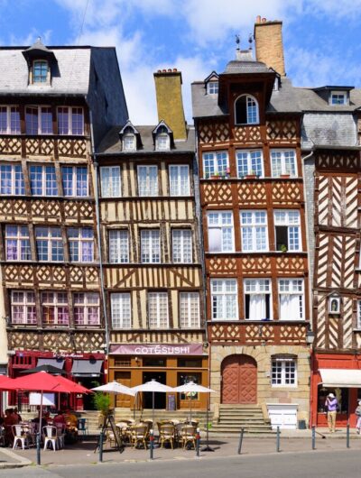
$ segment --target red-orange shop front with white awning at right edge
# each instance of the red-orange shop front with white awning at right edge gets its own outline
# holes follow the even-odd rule
[[[361,355],[315,354],[310,397],[310,425],[327,427],[325,402],[329,393],[338,399],[337,427],[356,427],[355,410],[361,400]]]

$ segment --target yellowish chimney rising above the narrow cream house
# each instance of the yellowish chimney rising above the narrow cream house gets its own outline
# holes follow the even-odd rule
[[[164,120],[174,140],[187,139],[186,121],[181,97],[181,73],[177,69],[158,69],[154,73],[158,120]]]

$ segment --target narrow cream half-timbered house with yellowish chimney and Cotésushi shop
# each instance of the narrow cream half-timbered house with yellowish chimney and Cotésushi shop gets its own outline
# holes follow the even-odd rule
[[[97,152],[109,380],[207,385],[194,129],[184,121],[180,72],[154,79],[159,124],[128,121]],[[193,408],[205,408],[201,395]],[[152,394],[135,406],[152,408]],[[184,394],[155,397],[157,409],[188,406]],[[134,398],[118,396],[116,407],[133,408]]]

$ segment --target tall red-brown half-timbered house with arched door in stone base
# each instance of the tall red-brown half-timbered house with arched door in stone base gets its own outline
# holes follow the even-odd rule
[[[281,27],[280,27],[281,28]],[[213,409],[309,410],[310,319],[301,111],[291,83],[236,51],[193,83]]]

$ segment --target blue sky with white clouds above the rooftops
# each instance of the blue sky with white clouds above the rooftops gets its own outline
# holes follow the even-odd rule
[[[0,45],[116,46],[134,124],[157,123],[153,72],[177,68],[191,124],[190,83],[224,71],[236,34],[248,48],[258,14],[283,22],[293,85],[360,87],[361,0],[0,0]]]

